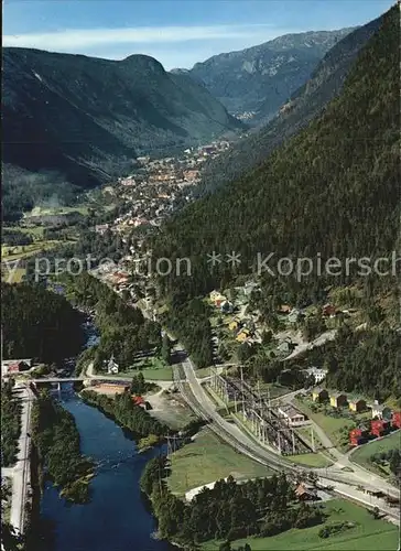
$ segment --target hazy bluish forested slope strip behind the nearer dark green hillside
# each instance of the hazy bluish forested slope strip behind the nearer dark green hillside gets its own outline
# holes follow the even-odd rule
[[[376,32],[382,18],[339,40],[318,63],[311,78],[283,106],[281,112],[257,133],[206,164],[198,194],[217,190],[261,164],[269,153],[306,127],[340,91],[358,52]]]

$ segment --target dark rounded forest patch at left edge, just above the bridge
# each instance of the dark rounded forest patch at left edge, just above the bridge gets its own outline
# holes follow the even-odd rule
[[[53,363],[82,349],[83,316],[64,296],[25,283],[1,283],[1,295],[4,358]]]

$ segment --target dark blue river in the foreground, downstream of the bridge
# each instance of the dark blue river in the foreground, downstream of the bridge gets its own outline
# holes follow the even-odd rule
[[[54,551],[172,551],[153,539],[155,521],[142,499],[139,479],[160,449],[138,454],[136,443],[110,419],[86,406],[63,385],[63,407],[75,418],[82,451],[98,467],[90,483],[91,501],[68,505],[47,482],[41,518],[54,526]],[[47,523],[47,522],[46,522]]]

